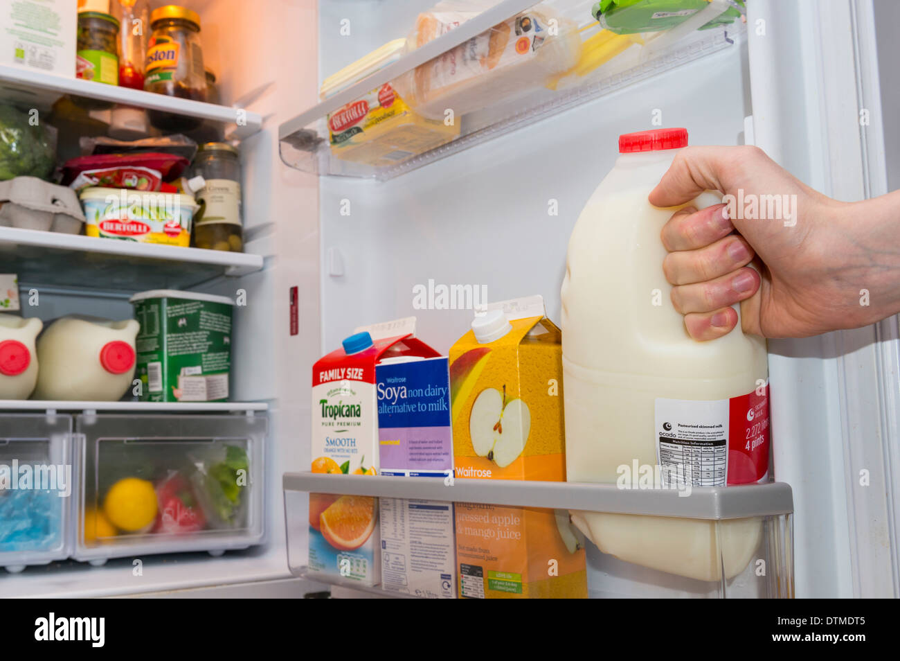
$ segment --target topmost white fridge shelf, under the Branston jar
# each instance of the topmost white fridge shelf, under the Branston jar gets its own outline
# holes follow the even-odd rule
[[[0,65],[0,98],[6,103],[36,107],[49,111],[62,95],[108,101],[113,104],[132,105],[148,110],[199,117],[210,122],[233,125],[226,133],[243,140],[263,127],[259,113],[251,113],[226,105],[204,104],[190,99],[144,92],[130,87],[104,85],[76,77],[63,77],[40,71]]]

